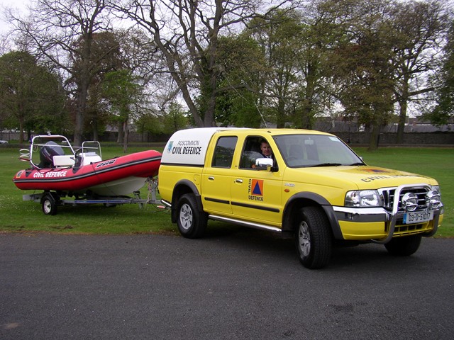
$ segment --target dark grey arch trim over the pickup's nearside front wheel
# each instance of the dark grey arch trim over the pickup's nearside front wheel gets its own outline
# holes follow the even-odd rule
[[[299,208],[307,206],[319,206],[323,209],[328,217],[331,231],[335,239],[343,239],[341,227],[334,213],[333,206],[324,198],[317,193],[301,192],[296,193],[294,196],[287,200],[282,214],[282,232],[293,233],[296,225],[295,220],[298,216]]]

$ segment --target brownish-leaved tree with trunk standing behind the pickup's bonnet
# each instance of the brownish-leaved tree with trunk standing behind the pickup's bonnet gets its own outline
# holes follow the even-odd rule
[[[383,125],[393,112],[392,29],[387,1],[361,2],[343,24],[347,39],[331,55],[339,101],[358,123],[370,127],[369,149],[377,149]]]

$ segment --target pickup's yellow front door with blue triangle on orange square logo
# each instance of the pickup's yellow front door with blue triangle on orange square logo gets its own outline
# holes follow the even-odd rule
[[[255,169],[255,159],[263,158],[260,145],[262,137],[245,139],[239,164],[232,170],[231,205],[236,218],[244,217],[266,225],[280,227],[282,223],[282,173]],[[265,142],[272,142],[267,141]],[[275,145],[270,145],[277,152]],[[273,154],[273,162],[282,162]]]

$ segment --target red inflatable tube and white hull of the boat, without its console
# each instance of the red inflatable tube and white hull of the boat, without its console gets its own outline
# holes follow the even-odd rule
[[[160,152],[148,150],[85,166],[24,169],[13,182],[21,190],[121,196],[137,191],[148,177],[156,176],[160,161]]]

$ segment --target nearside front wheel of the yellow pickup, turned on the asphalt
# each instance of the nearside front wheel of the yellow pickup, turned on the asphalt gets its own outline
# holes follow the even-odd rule
[[[299,210],[295,242],[299,261],[309,269],[323,268],[331,259],[333,236],[328,217],[319,207]]]

